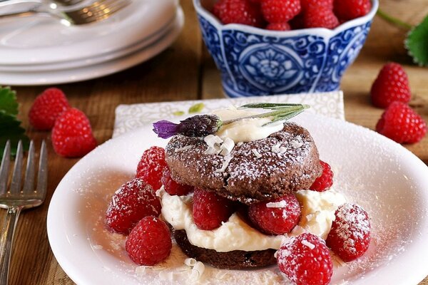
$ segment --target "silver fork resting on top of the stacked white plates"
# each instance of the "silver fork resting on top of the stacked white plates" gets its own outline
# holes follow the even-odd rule
[[[63,0],[66,2],[66,0]],[[35,6],[28,11],[11,12],[1,14],[0,19],[22,18],[28,16],[49,16],[59,19],[62,24],[83,25],[107,19],[111,15],[131,4],[131,0],[97,0],[71,2],[71,6],[46,6],[44,4]]]

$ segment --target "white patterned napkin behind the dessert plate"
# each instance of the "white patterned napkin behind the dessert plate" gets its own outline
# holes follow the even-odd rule
[[[174,120],[174,118],[180,118],[180,115],[193,113],[195,110],[200,113],[209,113],[212,110],[228,108],[230,105],[239,106],[246,103],[258,102],[308,104],[311,108],[307,112],[345,120],[342,91],[235,99],[141,103],[118,105],[116,108],[113,138],[157,120]],[[190,108],[193,110],[190,110]]]

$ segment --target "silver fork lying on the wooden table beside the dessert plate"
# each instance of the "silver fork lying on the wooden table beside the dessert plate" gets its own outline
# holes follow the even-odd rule
[[[16,222],[23,209],[40,206],[46,197],[47,179],[48,179],[48,156],[46,144],[41,144],[39,159],[39,172],[37,174],[37,186],[34,189],[35,182],[35,158],[34,143],[30,142],[29,155],[26,163],[24,177],[24,186],[21,188],[21,168],[23,159],[22,142],[19,141],[16,151],[14,172],[12,174],[9,191],[7,185],[9,180],[9,166],[11,156],[11,144],[6,142],[3,159],[0,165],[0,207],[7,209],[6,219],[0,235],[0,284],[6,285],[9,278],[9,262],[11,259],[11,249],[14,240]]]

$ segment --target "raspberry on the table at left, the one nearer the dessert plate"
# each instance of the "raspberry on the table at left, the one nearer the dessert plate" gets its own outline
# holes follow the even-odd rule
[[[81,110],[69,108],[59,115],[52,129],[52,145],[64,157],[82,157],[96,147],[91,123]]]

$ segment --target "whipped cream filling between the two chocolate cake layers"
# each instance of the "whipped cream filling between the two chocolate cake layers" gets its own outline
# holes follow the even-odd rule
[[[227,222],[213,230],[198,229],[193,222],[192,201],[189,196],[169,195],[159,191],[162,216],[174,229],[184,229],[191,244],[217,252],[279,249],[284,236],[267,236],[250,227],[238,214],[232,214]],[[326,239],[335,219],[335,211],[345,203],[345,197],[335,190],[315,192],[301,190],[296,193],[302,204],[300,227]],[[277,206],[277,205],[275,205]],[[278,205],[279,206],[279,205]]]

